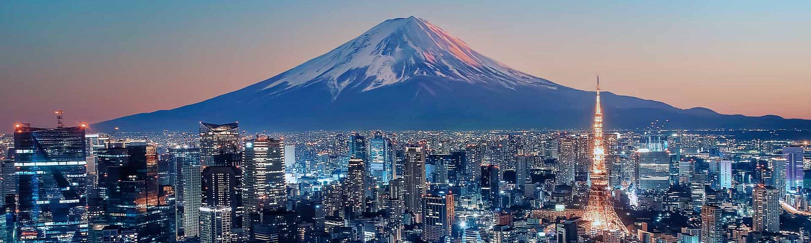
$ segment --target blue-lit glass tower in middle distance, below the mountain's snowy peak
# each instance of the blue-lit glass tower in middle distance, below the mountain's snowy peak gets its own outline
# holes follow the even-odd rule
[[[369,139],[369,170],[376,182],[388,183],[393,179],[394,155],[392,141],[375,134]]]

